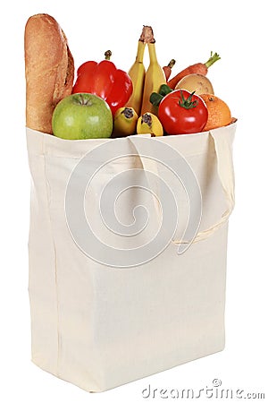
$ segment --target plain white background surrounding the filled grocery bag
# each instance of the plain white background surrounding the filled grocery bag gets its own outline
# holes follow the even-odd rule
[[[1,6],[1,343],[0,400],[141,402],[158,388],[212,387],[266,392],[267,384],[267,19],[265,2],[203,0],[156,3],[135,0],[5,2]],[[155,5],[150,5],[155,4]],[[89,394],[40,370],[30,361],[28,299],[29,167],[25,141],[23,31],[28,17],[50,13],[69,39],[75,65],[100,61],[107,48],[128,70],[143,24],[155,31],[158,61],[175,58],[173,73],[222,60],[208,77],[215,94],[239,118],[234,143],[236,207],[230,218],[226,302],[226,348],[138,382]],[[147,64],[147,56],[145,58]],[[163,401],[158,398],[153,401]],[[207,399],[199,401],[207,401]]]

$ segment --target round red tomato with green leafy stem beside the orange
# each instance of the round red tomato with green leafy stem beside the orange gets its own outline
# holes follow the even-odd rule
[[[167,134],[202,132],[208,112],[205,102],[194,92],[174,90],[159,104],[158,117]]]

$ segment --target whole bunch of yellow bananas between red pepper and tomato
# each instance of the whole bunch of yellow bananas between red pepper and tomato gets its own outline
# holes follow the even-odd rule
[[[145,47],[148,47],[149,65],[146,70],[143,63]],[[152,27],[144,25],[138,39],[138,50],[134,64],[129,71],[133,84],[132,95],[125,107],[121,107],[114,116],[113,136],[151,133],[163,135],[163,126],[157,117],[157,107],[150,102],[152,92],[158,92],[166,84],[163,68],[157,61],[155,38]]]

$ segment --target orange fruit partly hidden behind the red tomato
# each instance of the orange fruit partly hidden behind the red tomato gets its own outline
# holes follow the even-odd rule
[[[226,102],[214,94],[202,94],[199,97],[204,100],[208,111],[208,118],[203,132],[231,123],[230,107]]]

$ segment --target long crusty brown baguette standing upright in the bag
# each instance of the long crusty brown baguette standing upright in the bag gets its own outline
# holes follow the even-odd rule
[[[54,107],[71,94],[74,63],[66,36],[48,14],[29,17],[24,33],[26,126],[52,132]]]

